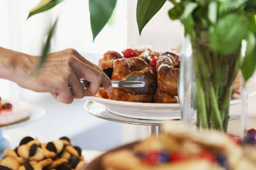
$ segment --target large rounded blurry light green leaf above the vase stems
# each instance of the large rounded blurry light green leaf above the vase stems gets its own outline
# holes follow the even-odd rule
[[[242,39],[248,34],[248,27],[243,15],[229,14],[216,23],[211,37],[214,52],[230,55],[241,48]]]

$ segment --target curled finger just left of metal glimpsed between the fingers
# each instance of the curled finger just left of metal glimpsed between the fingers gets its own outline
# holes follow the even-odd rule
[[[74,98],[81,99],[84,97],[84,89],[75,73],[70,74],[68,78],[68,84],[71,87],[71,92]]]

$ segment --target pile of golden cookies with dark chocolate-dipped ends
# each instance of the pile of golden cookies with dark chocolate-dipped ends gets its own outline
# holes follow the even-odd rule
[[[72,146],[67,137],[49,143],[25,137],[15,150],[7,148],[4,153],[6,156],[0,160],[0,169],[4,170],[83,170],[86,167],[81,148]]]

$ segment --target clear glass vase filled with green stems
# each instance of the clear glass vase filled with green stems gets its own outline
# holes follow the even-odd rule
[[[223,56],[212,52],[206,31],[184,36],[180,43],[179,97],[182,120],[227,132],[232,87],[241,51]]]

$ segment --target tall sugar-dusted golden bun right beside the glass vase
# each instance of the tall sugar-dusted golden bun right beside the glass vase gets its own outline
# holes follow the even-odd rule
[[[174,51],[164,52],[160,55],[156,63],[157,71],[157,93],[156,103],[166,103],[174,101],[178,95],[178,77],[180,72],[179,53]],[[164,94],[163,92],[167,93]],[[164,97],[163,97],[164,96]],[[162,98],[163,97],[163,98]],[[173,98],[173,99],[172,99]],[[167,99],[167,100],[165,100]]]

